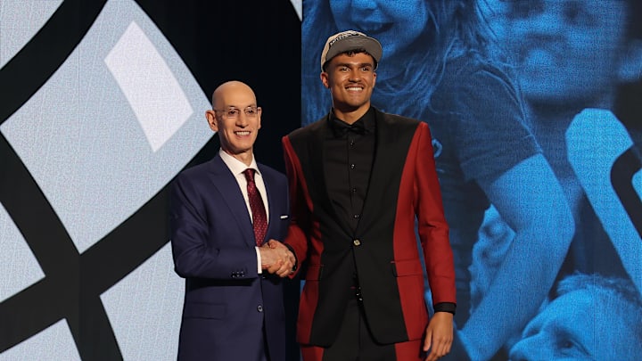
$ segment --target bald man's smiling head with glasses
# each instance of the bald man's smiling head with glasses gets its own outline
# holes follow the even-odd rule
[[[249,165],[260,129],[260,108],[251,115],[257,106],[254,92],[241,82],[227,82],[214,91],[212,104],[213,110],[205,117],[210,128],[218,132],[221,149]]]

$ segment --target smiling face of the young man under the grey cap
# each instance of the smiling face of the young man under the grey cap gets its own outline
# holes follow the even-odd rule
[[[348,123],[370,108],[375,79],[374,59],[367,53],[339,54],[321,73],[321,81],[332,94],[334,114]]]

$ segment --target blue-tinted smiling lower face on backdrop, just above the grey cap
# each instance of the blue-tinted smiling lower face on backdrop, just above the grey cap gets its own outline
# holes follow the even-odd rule
[[[428,22],[424,0],[332,0],[330,9],[338,29],[355,29],[374,37],[384,57],[406,56]]]

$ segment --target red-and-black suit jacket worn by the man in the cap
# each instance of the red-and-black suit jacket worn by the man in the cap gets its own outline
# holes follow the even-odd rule
[[[374,339],[382,343],[420,339],[428,324],[421,257],[432,301],[455,302],[449,228],[430,130],[418,120],[375,110],[374,162],[353,231],[348,219],[337,217],[326,188],[332,176],[324,171],[323,143],[331,132],[327,119],[283,138],[292,200],[286,243],[307,268],[297,339],[322,347],[333,343],[346,303],[354,297],[350,286],[355,268]]]

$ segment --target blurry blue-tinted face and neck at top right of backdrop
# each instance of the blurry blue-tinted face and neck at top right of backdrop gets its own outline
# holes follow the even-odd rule
[[[576,215],[580,190],[572,186],[564,131],[586,108],[613,110],[618,86],[639,79],[642,35],[632,14],[642,9],[636,3],[489,1],[504,15],[498,36],[514,59],[535,135],[566,184]]]

